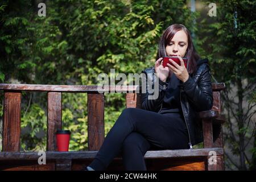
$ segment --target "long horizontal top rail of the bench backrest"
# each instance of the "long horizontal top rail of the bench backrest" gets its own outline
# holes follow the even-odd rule
[[[139,90],[139,86],[121,86],[121,85],[38,85],[38,84],[0,84],[0,90],[24,90],[24,91],[42,91],[42,92],[116,92]]]

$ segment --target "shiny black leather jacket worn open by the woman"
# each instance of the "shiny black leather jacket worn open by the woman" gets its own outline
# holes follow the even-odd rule
[[[150,78],[154,88],[156,76],[154,67],[142,71],[145,73],[146,80]],[[212,82],[208,59],[197,61],[197,70],[189,74],[189,78],[184,83],[180,80],[180,102],[185,123],[187,124],[189,143],[192,146],[203,142],[203,130],[201,119],[197,117],[200,111],[210,110],[213,106]],[[151,86],[151,85],[150,85]],[[167,82],[159,79],[159,96],[155,100],[148,99],[150,95],[148,89],[142,93],[142,109],[158,112],[162,109],[164,94],[167,90]]]

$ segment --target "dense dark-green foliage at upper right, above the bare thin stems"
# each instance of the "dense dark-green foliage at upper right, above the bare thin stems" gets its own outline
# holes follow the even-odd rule
[[[206,2],[205,4],[209,4]],[[213,75],[226,85],[248,78],[255,82],[256,67],[255,16],[256,3],[251,1],[217,1],[217,17],[212,23],[202,25],[209,49],[208,58]],[[235,18],[237,13],[237,18]],[[203,43],[202,43],[203,44]],[[229,68],[229,69],[226,69]]]

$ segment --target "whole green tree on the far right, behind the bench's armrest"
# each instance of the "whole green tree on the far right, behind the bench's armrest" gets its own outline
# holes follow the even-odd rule
[[[256,2],[216,3],[216,21],[204,24],[204,27],[208,26],[203,30],[208,33],[207,39],[204,39],[204,50],[209,50],[205,53],[208,53],[214,77],[218,82],[225,82],[227,87],[222,95],[227,113],[225,127],[228,129],[225,132],[225,147],[230,148],[240,162],[237,163],[228,154],[226,158],[230,166],[246,170],[250,164],[253,165],[246,151],[250,149],[251,139],[255,139]],[[255,145],[253,158],[255,166]]]

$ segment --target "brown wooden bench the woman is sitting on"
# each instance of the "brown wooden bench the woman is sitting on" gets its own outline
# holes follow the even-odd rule
[[[150,150],[144,155],[148,170],[224,170],[224,147],[220,92],[224,83],[212,84],[212,110],[203,111],[204,148],[193,150]],[[92,162],[104,141],[104,93],[98,90],[126,92],[126,107],[141,107],[139,86],[72,86],[0,84],[4,92],[3,142],[0,152],[1,170],[81,170]],[[46,164],[38,164],[38,152],[20,152],[21,92],[47,92],[47,151]],[[55,131],[61,129],[61,93],[87,93],[88,151],[57,152]],[[96,117],[97,116],[97,117]],[[212,164],[212,151],[217,163]],[[117,156],[107,170],[123,170],[122,158]]]

